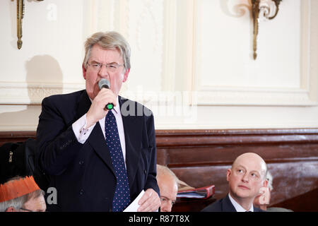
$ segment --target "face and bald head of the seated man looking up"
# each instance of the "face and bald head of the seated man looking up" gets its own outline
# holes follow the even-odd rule
[[[254,201],[259,189],[267,185],[264,179],[265,171],[266,165],[259,157],[254,155],[238,157],[232,169],[228,169],[227,172],[231,196],[237,201],[242,198]]]

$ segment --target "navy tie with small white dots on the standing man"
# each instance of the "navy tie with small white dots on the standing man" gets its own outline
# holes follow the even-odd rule
[[[112,200],[112,211],[120,212],[124,210],[130,202],[130,191],[124,157],[122,154],[122,146],[119,141],[117,123],[112,111],[107,113],[105,119],[105,136],[117,180],[116,190]]]

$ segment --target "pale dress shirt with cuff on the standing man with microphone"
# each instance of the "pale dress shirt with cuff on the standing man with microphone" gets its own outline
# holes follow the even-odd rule
[[[124,124],[122,123],[122,114],[120,112],[118,97],[117,97],[116,106],[114,106],[114,108],[111,111],[112,111],[112,114],[114,114],[114,117],[116,118],[120,145],[122,146],[122,154],[124,156],[124,162],[126,165],[126,145],[125,145],[126,143],[125,143],[125,134],[124,134]],[[102,129],[102,134],[105,137],[105,117],[100,119],[99,122],[100,122],[100,129]],[[81,118],[75,121],[72,124],[72,129],[73,129],[73,132],[75,133],[77,141],[79,143],[85,143],[85,141],[90,136],[90,133],[93,131],[95,125],[96,124],[93,124],[93,126],[90,126],[90,128],[86,128],[86,114],[84,114]],[[106,142],[106,138],[105,138],[105,142]]]

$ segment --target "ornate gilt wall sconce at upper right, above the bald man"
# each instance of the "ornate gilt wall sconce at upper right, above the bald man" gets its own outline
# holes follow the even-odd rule
[[[273,20],[277,16],[278,6],[283,0],[252,0],[252,16],[254,23],[253,58],[257,59],[257,35],[259,34],[259,21]]]

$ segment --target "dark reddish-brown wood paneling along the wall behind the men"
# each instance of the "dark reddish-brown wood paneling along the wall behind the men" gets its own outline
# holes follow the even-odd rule
[[[0,132],[0,145],[30,137],[35,131]],[[271,206],[318,211],[318,129],[158,130],[156,142],[158,164],[189,185],[214,184],[215,198],[228,192],[225,175],[233,160],[257,153],[273,174]]]

